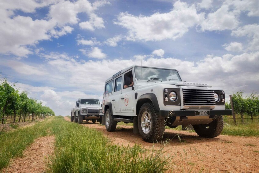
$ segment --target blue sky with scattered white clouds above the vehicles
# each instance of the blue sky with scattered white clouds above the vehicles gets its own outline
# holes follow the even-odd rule
[[[259,92],[258,0],[0,0],[0,75],[70,115],[128,66]],[[227,99],[228,100],[228,99]]]

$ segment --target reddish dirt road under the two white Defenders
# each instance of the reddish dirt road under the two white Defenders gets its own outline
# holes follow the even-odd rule
[[[68,117],[65,119],[70,121]],[[164,147],[165,156],[173,157],[173,166],[169,172],[199,172],[203,169],[203,172],[259,172],[258,137],[220,135],[208,139],[199,137],[196,133],[166,129],[164,143],[153,144],[133,134],[133,126],[117,126],[115,132],[107,132],[99,122],[84,121],[83,126],[103,132],[115,144],[139,144],[150,150],[153,145],[156,149]]]

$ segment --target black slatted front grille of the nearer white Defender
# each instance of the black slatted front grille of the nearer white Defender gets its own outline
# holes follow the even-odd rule
[[[183,89],[183,106],[215,106],[214,91]]]

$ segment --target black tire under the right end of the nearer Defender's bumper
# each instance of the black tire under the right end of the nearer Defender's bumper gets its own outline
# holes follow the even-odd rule
[[[200,137],[213,138],[220,135],[223,130],[223,126],[223,117],[222,115],[218,115],[213,122],[204,125],[193,125],[193,129]]]

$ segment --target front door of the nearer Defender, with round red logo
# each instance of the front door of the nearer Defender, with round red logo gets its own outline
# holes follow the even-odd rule
[[[120,112],[121,113],[133,113],[133,89],[132,87],[124,86],[125,77],[129,77],[129,75],[133,75],[133,69],[126,71],[123,74],[123,86],[120,95]],[[135,77],[132,77],[134,82]],[[134,84],[135,85],[135,84]]]

